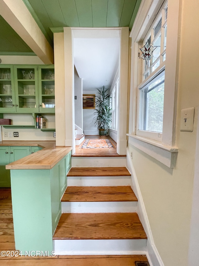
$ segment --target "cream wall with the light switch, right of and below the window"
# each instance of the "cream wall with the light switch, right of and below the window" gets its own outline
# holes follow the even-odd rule
[[[177,0],[169,2],[177,3]],[[190,56],[185,51],[190,51],[190,48],[199,42],[199,35],[196,34],[199,31],[199,17],[198,1],[180,0],[179,3],[179,78],[176,80],[176,146],[179,152],[176,165],[174,169],[170,169],[128,144],[154,243],[164,266],[187,266],[189,241],[192,241],[189,239],[199,109],[199,75],[198,53]],[[189,107],[195,107],[193,132],[181,132],[181,109]],[[129,117],[132,117],[132,114]],[[198,208],[195,211],[198,212]],[[198,227],[194,222],[192,225]],[[192,265],[196,264],[190,264]]]

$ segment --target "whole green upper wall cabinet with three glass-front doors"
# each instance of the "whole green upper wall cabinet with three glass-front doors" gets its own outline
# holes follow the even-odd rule
[[[0,65],[0,113],[54,113],[54,65]]]

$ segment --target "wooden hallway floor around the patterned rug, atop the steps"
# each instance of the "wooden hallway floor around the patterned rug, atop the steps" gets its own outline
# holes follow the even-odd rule
[[[80,148],[81,145],[75,147],[75,153],[72,156],[84,156],[84,157],[118,157],[118,156],[126,156],[126,155],[119,155],[117,153],[117,143],[106,136],[107,139],[113,143],[115,148],[96,148],[96,149],[86,149]],[[99,136],[85,136],[85,139],[100,139]]]

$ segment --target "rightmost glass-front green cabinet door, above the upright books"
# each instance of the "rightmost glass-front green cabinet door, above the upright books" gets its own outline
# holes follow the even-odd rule
[[[54,65],[39,65],[39,112],[55,112]]]

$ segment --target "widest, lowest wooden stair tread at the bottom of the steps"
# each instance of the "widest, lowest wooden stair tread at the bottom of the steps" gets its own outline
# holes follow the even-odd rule
[[[53,239],[147,239],[137,213],[62,213]]]

